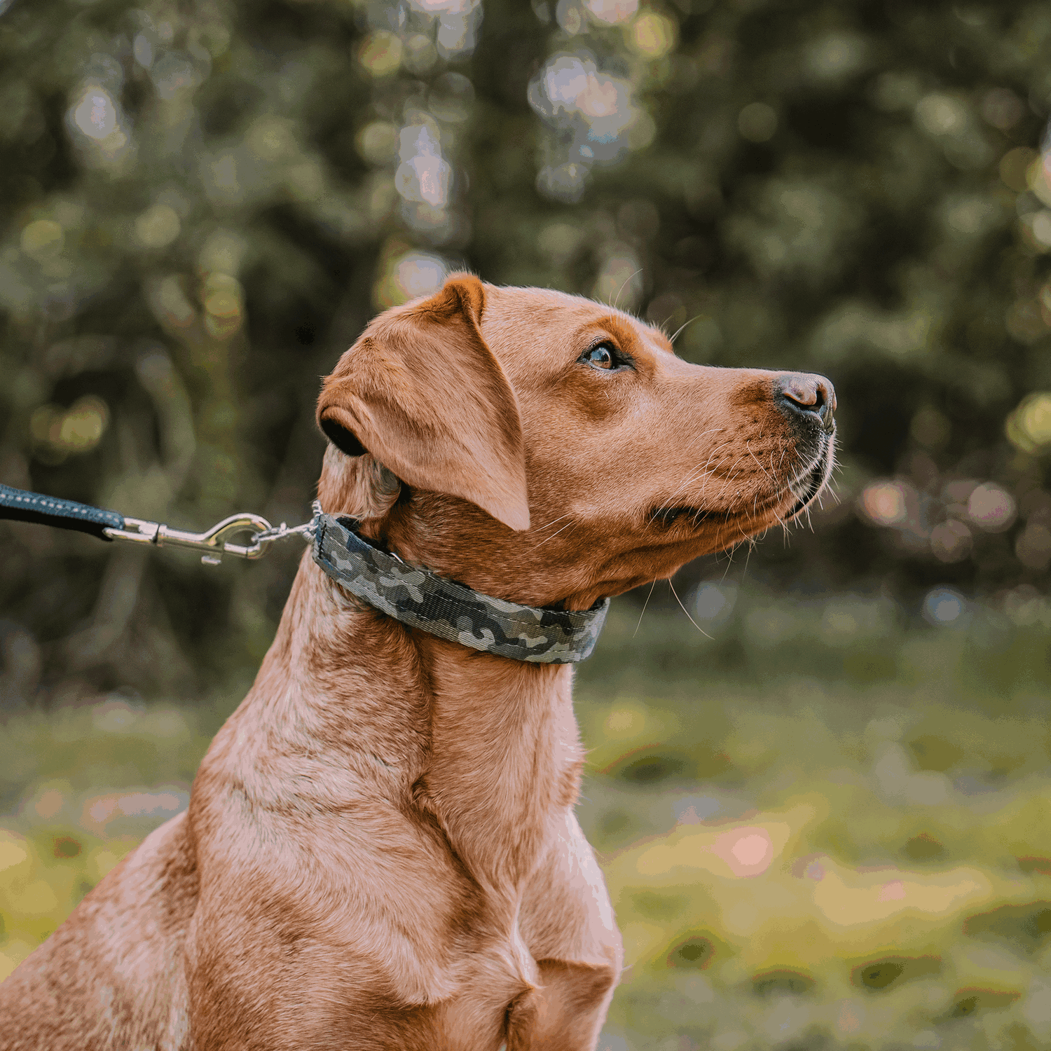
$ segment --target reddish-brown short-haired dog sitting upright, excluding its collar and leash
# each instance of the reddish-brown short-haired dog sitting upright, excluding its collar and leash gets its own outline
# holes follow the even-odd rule
[[[325,382],[326,512],[486,595],[586,610],[799,514],[818,376],[466,274]],[[593,1048],[621,966],[561,664],[445,641],[305,555],[188,812],[0,987],[5,1051]]]

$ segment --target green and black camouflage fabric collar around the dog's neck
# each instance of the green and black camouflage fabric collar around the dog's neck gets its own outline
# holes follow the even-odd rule
[[[588,657],[610,600],[571,612],[518,605],[403,562],[357,535],[357,521],[318,514],[314,561],[351,594],[403,624],[499,657],[572,664]]]

